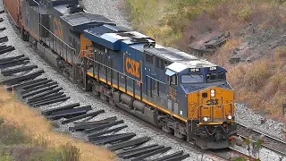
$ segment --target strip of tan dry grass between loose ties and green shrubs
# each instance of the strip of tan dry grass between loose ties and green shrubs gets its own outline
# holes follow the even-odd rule
[[[0,117],[9,123],[16,123],[23,127],[24,132],[34,140],[45,140],[43,144],[49,148],[60,148],[70,143],[80,149],[80,160],[83,161],[117,160],[114,153],[103,147],[97,147],[53,131],[52,124],[46,121],[46,118],[40,115],[38,111],[17,101],[3,87],[0,88],[0,92]]]

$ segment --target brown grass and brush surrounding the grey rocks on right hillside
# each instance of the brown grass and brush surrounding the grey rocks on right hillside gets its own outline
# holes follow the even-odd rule
[[[251,64],[228,64],[234,49],[251,34],[285,24],[284,10],[274,1],[225,1],[215,6],[212,12],[201,13],[189,22],[180,47],[186,49],[190,36],[196,38],[214,30],[230,31],[231,38],[214,55],[206,57],[207,60],[228,70],[227,76],[234,88],[236,102],[248,103],[269,117],[286,121],[286,117],[282,116],[282,104],[286,103],[286,47],[275,47],[273,52]],[[257,28],[252,29],[250,23],[257,25]]]

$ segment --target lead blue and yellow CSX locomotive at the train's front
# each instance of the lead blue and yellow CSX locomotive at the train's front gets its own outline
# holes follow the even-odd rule
[[[222,67],[116,26],[85,30],[85,38],[94,56],[84,77],[95,94],[200,148],[229,147],[233,91]]]

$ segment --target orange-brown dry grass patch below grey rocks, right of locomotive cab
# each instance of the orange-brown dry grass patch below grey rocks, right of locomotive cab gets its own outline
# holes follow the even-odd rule
[[[286,121],[282,115],[282,104],[286,103],[284,68],[285,64],[274,58],[230,68],[228,80],[235,90],[235,100],[247,102],[268,117]]]

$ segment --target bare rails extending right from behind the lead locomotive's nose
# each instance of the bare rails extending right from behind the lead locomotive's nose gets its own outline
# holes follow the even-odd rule
[[[241,124],[241,123],[238,123],[237,131],[240,137],[247,138],[251,136],[252,140],[258,140],[261,135],[264,135],[265,143],[262,144],[264,148],[268,148],[275,153],[278,153],[282,156],[286,156],[286,141],[279,140],[261,131],[257,131],[254,129],[248,129],[246,125]]]

